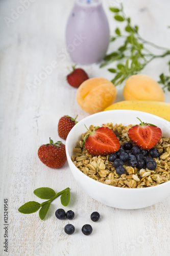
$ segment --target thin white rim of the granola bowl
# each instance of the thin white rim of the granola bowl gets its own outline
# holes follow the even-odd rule
[[[144,113],[144,114],[147,114],[147,115],[151,115],[151,116],[154,116],[154,117],[156,117],[158,120],[160,120],[160,121],[166,121],[167,123],[170,123],[169,121],[167,121],[166,119],[163,119],[163,118],[161,118],[161,117],[159,117],[159,116],[156,116],[156,115],[153,115],[153,114],[150,114],[150,113],[147,113],[147,112],[143,112],[143,111],[137,111],[137,110],[107,110],[106,112],[123,112],[123,111],[125,111],[125,112],[136,112],[136,113]],[[95,114],[92,114],[92,115],[89,115],[89,116],[87,116],[87,117],[85,117],[85,118],[83,118],[83,119],[81,119],[78,123],[82,123],[84,120],[86,120],[86,119],[88,119],[89,117],[91,117],[91,116],[96,116],[96,115],[100,115],[101,113],[103,113],[104,111],[102,111],[102,112],[98,112],[98,113],[95,113]],[[72,132],[74,132],[74,130],[76,130],[76,126],[78,126],[78,123],[77,124],[75,124],[75,126],[74,127],[72,127],[72,129],[70,130],[70,132],[69,132],[69,134],[68,134],[68,136],[67,136],[67,138],[66,138],[66,143],[65,143],[65,150],[66,150],[66,155],[67,155],[67,161],[68,161],[68,157],[69,157],[69,161],[70,161],[70,163],[71,164],[73,164],[72,165],[72,167],[74,167],[74,168],[76,168],[75,170],[78,172],[78,168],[76,167],[76,165],[72,162],[72,160],[71,160],[71,157],[69,156],[69,152],[68,152],[68,143],[69,143],[69,137],[71,137],[71,134],[72,134]],[[69,161],[68,161],[68,164],[69,164]],[[72,171],[71,171],[72,172]],[[90,177],[88,177],[87,175],[85,175],[84,173],[82,173],[81,172],[81,170],[79,170],[79,172],[81,173],[81,175],[82,175],[82,177],[86,177],[87,179],[90,179],[90,180],[92,180],[93,182],[98,182],[99,184],[101,184],[100,186],[109,186],[110,188],[109,189],[124,189],[124,190],[134,190],[134,189],[137,189],[137,191],[138,190],[141,190],[141,189],[143,189],[144,188],[144,190],[146,190],[146,189],[156,189],[156,187],[160,187],[160,186],[165,186],[165,185],[167,185],[168,183],[170,183],[170,180],[169,181],[166,181],[166,182],[164,182],[164,183],[161,183],[161,184],[157,184],[157,185],[155,185],[155,186],[151,186],[151,187],[138,187],[138,188],[130,188],[130,187],[117,187],[117,186],[111,186],[111,185],[108,185],[108,184],[105,184],[105,183],[102,183],[102,182],[100,182],[100,181],[96,181],[96,180],[94,180],[94,179],[92,179],[92,178],[90,178]],[[85,178],[85,179],[86,179]],[[112,188],[111,188],[112,187]],[[123,190],[122,190],[123,191]]]

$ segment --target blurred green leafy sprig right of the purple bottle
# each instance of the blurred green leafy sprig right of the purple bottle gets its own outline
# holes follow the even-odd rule
[[[123,38],[124,42],[117,51],[111,52],[104,57],[104,61],[100,67],[105,67],[113,62],[117,63],[116,68],[108,69],[108,71],[115,74],[111,81],[117,86],[129,76],[137,74],[153,59],[170,55],[170,49],[157,46],[152,42],[144,40],[138,33],[138,26],[132,26],[131,18],[126,17],[122,4],[120,8],[111,7],[110,11],[114,13],[114,19],[117,22],[125,23],[125,34],[119,28],[116,28],[115,36],[111,37],[111,41]],[[151,50],[147,49],[147,45],[161,50],[161,54],[155,55]],[[162,75],[160,79],[164,86],[163,89],[167,87],[170,91],[170,77]]]

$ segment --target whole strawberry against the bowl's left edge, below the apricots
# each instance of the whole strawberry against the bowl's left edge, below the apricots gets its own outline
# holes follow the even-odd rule
[[[72,129],[73,126],[75,126],[75,124],[78,123],[78,121],[76,121],[76,118],[74,119],[70,116],[63,116],[60,118],[58,123],[58,135],[61,139],[66,140],[69,131]]]

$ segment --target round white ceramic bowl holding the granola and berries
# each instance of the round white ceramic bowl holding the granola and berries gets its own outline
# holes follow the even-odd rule
[[[71,161],[74,155],[72,148],[76,146],[81,134],[86,132],[84,124],[102,126],[103,123],[122,123],[123,125],[138,124],[136,118],[153,123],[161,128],[162,135],[170,137],[170,122],[155,115],[133,110],[110,110],[90,115],[79,121],[69,132],[66,139],[66,155],[72,175],[77,183],[93,199],[108,206],[121,209],[138,209],[158,203],[170,194],[170,181],[153,187],[122,188],[95,181],[83,174]]]

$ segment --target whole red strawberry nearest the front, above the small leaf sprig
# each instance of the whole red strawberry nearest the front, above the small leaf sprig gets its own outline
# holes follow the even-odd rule
[[[63,166],[67,160],[65,145],[61,141],[54,143],[50,138],[50,144],[39,147],[38,157],[46,166],[59,168]]]

